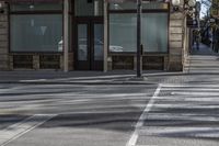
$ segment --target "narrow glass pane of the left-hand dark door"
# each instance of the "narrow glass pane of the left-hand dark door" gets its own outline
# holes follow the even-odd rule
[[[88,60],[88,25],[78,25],[78,60]]]

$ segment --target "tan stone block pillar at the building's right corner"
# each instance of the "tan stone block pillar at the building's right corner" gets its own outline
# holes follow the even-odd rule
[[[170,13],[168,70],[183,70],[184,19],[182,12]]]

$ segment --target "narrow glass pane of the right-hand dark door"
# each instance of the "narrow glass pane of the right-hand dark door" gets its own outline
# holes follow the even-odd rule
[[[94,60],[103,60],[103,24],[94,24]]]

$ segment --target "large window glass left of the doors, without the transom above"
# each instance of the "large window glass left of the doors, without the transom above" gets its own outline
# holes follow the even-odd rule
[[[10,19],[12,52],[60,52],[61,14],[21,14]]]

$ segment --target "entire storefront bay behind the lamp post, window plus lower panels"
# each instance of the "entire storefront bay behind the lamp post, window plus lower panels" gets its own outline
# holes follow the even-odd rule
[[[135,69],[137,52],[136,1],[108,5],[108,57],[111,69]],[[169,54],[169,4],[143,1],[141,16],[142,69],[164,69]]]

